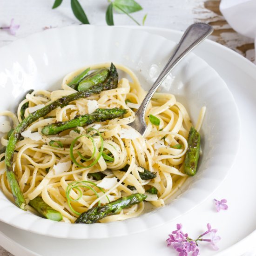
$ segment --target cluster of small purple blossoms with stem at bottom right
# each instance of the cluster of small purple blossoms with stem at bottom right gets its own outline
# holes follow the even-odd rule
[[[207,224],[207,231],[202,235],[198,236],[197,239],[191,239],[188,234],[184,234],[182,231],[182,224],[176,225],[176,230],[172,231],[169,235],[167,241],[167,246],[171,246],[175,249],[179,256],[197,256],[199,254],[198,241],[209,242],[213,249],[218,249],[216,243],[221,239],[219,236],[216,236],[217,229],[212,229],[210,223]],[[210,239],[202,238],[209,234]]]

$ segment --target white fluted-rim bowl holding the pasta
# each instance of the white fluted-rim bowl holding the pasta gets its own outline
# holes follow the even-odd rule
[[[56,89],[68,72],[88,64],[120,63],[132,69],[148,89],[152,64],[160,69],[175,43],[161,36],[129,28],[77,26],[51,29],[17,40],[0,49],[0,110],[15,111],[28,89]],[[189,54],[173,72],[168,92],[177,96],[196,121],[202,106],[202,157],[196,176],[167,206],[120,222],[69,224],[22,211],[0,192],[0,221],[41,235],[60,238],[105,238],[145,231],[188,212],[224,180],[239,148],[240,123],[232,94],[216,71]],[[166,90],[166,89],[165,89]],[[10,96],[12,103],[10,104]]]

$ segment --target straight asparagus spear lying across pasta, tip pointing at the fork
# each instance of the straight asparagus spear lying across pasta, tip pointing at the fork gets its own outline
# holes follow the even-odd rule
[[[42,128],[41,133],[44,135],[58,134],[64,130],[85,126],[94,122],[102,122],[127,113],[126,109],[121,108],[98,108],[92,114],[80,115],[66,122],[56,122]]]

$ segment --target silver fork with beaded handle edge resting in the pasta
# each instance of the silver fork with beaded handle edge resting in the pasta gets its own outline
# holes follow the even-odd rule
[[[145,112],[148,107],[148,103],[155,94],[157,88],[161,85],[162,81],[176,67],[176,65],[198,44],[200,44],[205,38],[212,34],[213,28],[205,23],[195,23],[190,25],[182,35],[182,39],[175,48],[174,53],[168,60],[167,64],[163,68],[162,72],[156,79],[153,86],[148,91],[141,106],[135,113],[135,121],[129,124],[129,126],[135,128],[142,136],[145,134],[147,125],[145,122]]]

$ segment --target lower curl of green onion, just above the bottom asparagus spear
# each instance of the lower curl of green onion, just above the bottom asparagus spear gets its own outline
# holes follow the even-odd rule
[[[87,183],[92,184],[92,185],[94,185],[95,187],[97,187],[97,185],[96,185],[94,182],[89,182],[89,181],[76,182],[76,181],[74,181],[74,182],[70,182],[70,183],[68,184],[68,186],[67,186],[67,189],[66,189],[67,204],[68,204],[69,208],[74,212],[74,214],[76,214],[76,215],[78,215],[78,216],[81,215],[81,213],[79,213],[79,212],[77,212],[77,211],[74,210],[74,208],[71,206],[70,201],[77,202],[77,201],[79,201],[79,200],[82,198],[83,192],[82,192],[81,188],[86,188],[86,189],[92,190],[92,191],[94,192],[94,194],[97,196],[97,198],[99,198],[99,194],[95,191],[95,189],[93,189],[93,188],[92,188],[90,185],[88,185]],[[101,192],[103,192],[103,193],[105,194],[105,192],[104,192],[103,189],[101,189],[100,187],[97,187],[97,188],[100,189]],[[78,194],[79,194],[79,196],[78,196],[77,199],[72,199],[72,198],[70,197],[70,193],[71,193],[71,190],[72,190],[72,189],[76,189],[76,190],[77,190],[77,192],[78,192]],[[106,197],[107,197],[107,199],[108,199],[108,202],[110,202],[108,196],[106,196]],[[98,206],[100,206],[100,205],[101,205],[101,201],[98,202]]]

